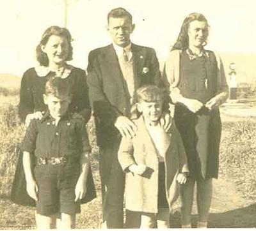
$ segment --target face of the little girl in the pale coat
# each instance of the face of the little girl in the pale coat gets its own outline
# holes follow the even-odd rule
[[[138,103],[138,111],[142,113],[144,119],[149,122],[157,122],[162,115],[163,102],[157,100],[156,102],[141,101]]]

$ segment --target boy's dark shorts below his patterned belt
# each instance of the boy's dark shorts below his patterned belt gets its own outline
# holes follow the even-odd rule
[[[75,188],[79,177],[79,163],[60,165],[36,165],[34,174],[38,185],[36,212],[49,216],[58,212],[81,212],[75,202]]]

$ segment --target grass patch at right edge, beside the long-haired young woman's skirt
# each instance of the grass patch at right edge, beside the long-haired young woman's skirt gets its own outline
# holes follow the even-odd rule
[[[256,122],[223,124],[220,173],[233,181],[246,197],[256,197]]]

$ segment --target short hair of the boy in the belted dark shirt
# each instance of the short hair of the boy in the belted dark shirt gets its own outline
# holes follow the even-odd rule
[[[44,94],[56,97],[70,96],[70,85],[66,79],[60,77],[50,78],[45,84]]]

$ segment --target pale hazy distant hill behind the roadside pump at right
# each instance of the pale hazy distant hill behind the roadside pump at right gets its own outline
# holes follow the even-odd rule
[[[236,63],[237,82],[256,82],[256,54],[237,54],[219,52],[228,80],[229,64]],[[159,59],[160,68],[163,70],[163,59]]]

